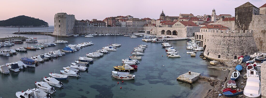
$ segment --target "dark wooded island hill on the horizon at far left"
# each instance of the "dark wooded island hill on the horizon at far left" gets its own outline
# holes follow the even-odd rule
[[[0,27],[48,27],[48,23],[39,18],[21,15],[0,21]]]

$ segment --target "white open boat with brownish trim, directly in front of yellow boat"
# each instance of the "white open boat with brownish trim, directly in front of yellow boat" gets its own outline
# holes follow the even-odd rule
[[[112,71],[112,76],[114,78],[122,80],[131,80],[135,78],[135,75],[129,74],[128,72],[118,72],[118,71]]]

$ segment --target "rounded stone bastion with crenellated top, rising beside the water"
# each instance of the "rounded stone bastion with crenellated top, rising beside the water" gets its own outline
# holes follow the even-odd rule
[[[252,30],[196,32],[196,39],[197,35],[203,36],[203,54],[210,59],[234,60],[240,55],[251,55],[258,51]]]

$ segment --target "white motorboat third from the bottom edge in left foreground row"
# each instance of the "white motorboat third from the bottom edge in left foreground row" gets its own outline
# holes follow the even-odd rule
[[[51,86],[54,86],[54,87],[63,87],[63,83],[56,80],[55,78],[53,77],[47,77],[47,76],[44,76],[43,77],[43,80],[48,84],[48,85],[51,85]]]

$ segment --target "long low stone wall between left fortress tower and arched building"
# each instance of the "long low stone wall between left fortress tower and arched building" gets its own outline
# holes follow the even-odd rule
[[[143,27],[85,27],[75,26],[74,34],[138,33]]]

